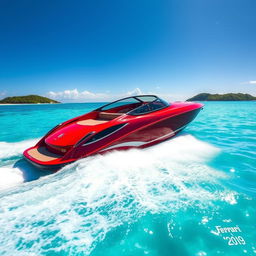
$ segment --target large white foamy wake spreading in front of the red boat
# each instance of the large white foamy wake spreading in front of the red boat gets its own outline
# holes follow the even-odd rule
[[[83,159],[25,183],[0,198],[0,251],[89,254],[110,230],[147,212],[225,200],[230,192],[219,179],[226,176],[208,165],[218,152],[182,135],[144,150]]]

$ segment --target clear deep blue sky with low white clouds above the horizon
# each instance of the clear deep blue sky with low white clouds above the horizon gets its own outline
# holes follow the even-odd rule
[[[0,97],[256,95],[254,0],[0,1]]]

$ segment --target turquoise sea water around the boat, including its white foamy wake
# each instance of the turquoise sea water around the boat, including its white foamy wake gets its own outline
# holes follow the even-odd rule
[[[99,105],[0,106],[0,255],[256,254],[256,102],[208,102],[167,142],[56,174],[22,159]]]

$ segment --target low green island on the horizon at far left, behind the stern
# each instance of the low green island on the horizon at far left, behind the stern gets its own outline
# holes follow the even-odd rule
[[[41,104],[41,103],[60,103],[39,95],[14,96],[0,100],[0,104]]]

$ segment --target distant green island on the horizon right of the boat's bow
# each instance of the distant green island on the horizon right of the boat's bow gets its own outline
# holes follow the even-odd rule
[[[210,94],[200,93],[187,99],[187,101],[250,101],[256,100],[256,97],[247,93],[226,93],[226,94]]]

